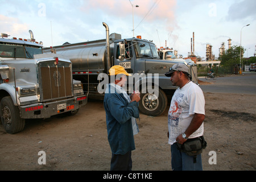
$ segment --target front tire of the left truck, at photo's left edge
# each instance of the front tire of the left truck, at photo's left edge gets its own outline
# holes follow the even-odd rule
[[[10,96],[2,98],[0,114],[2,125],[7,133],[15,134],[24,129],[25,119],[20,118],[19,108],[13,104]]]

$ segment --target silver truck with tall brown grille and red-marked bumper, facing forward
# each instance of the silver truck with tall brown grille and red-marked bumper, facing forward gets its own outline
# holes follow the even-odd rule
[[[72,63],[31,39],[0,38],[0,116],[10,134],[24,129],[26,119],[76,114],[87,103],[81,81],[72,78]]]

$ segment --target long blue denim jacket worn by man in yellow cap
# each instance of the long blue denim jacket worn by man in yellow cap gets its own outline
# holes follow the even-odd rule
[[[128,102],[111,84],[104,97],[109,145],[113,154],[124,155],[135,150],[131,117],[139,118],[137,102]]]

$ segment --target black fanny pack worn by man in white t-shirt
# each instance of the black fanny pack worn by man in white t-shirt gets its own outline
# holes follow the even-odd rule
[[[207,142],[204,137],[189,138],[183,144],[177,143],[177,147],[181,152],[189,156],[195,156],[202,153],[203,149],[207,147]]]

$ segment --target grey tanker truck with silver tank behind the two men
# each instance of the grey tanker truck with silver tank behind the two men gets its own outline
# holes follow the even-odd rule
[[[89,91],[89,98],[104,96],[104,93],[98,90],[98,85],[101,84],[99,76],[109,74],[109,69],[113,65],[121,65],[131,75],[140,75],[139,81],[133,80],[134,85],[139,86],[127,89],[141,91],[139,102],[141,113],[153,116],[162,114],[167,107],[167,95],[172,95],[177,89],[176,86],[172,86],[170,78],[164,73],[168,72],[176,62],[160,60],[153,42],[139,37],[122,39],[120,34],[115,33],[109,35],[108,24],[104,22],[102,24],[106,29],[106,39],[63,44],[44,48],[44,51],[46,53],[56,51],[60,55],[69,57],[73,64],[73,77],[84,84],[89,84],[84,86],[84,89]],[[195,64],[188,64],[188,67],[193,67],[192,69],[196,71]],[[192,77],[195,82],[197,74],[193,74]],[[143,85],[145,82],[146,85]],[[148,84],[151,84],[151,88],[158,88],[158,94],[149,92]],[[143,90],[145,92],[142,92]]]

